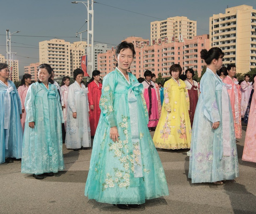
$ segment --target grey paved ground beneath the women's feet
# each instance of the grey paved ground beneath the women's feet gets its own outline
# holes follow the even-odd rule
[[[188,149],[158,149],[170,196],[148,200],[142,208],[128,211],[84,196],[91,149],[74,152],[63,146],[65,171],[43,180],[21,174],[21,161],[1,164],[0,214],[256,214],[256,164],[241,160],[244,138],[245,131],[237,143],[240,177],[222,186],[191,183]]]

